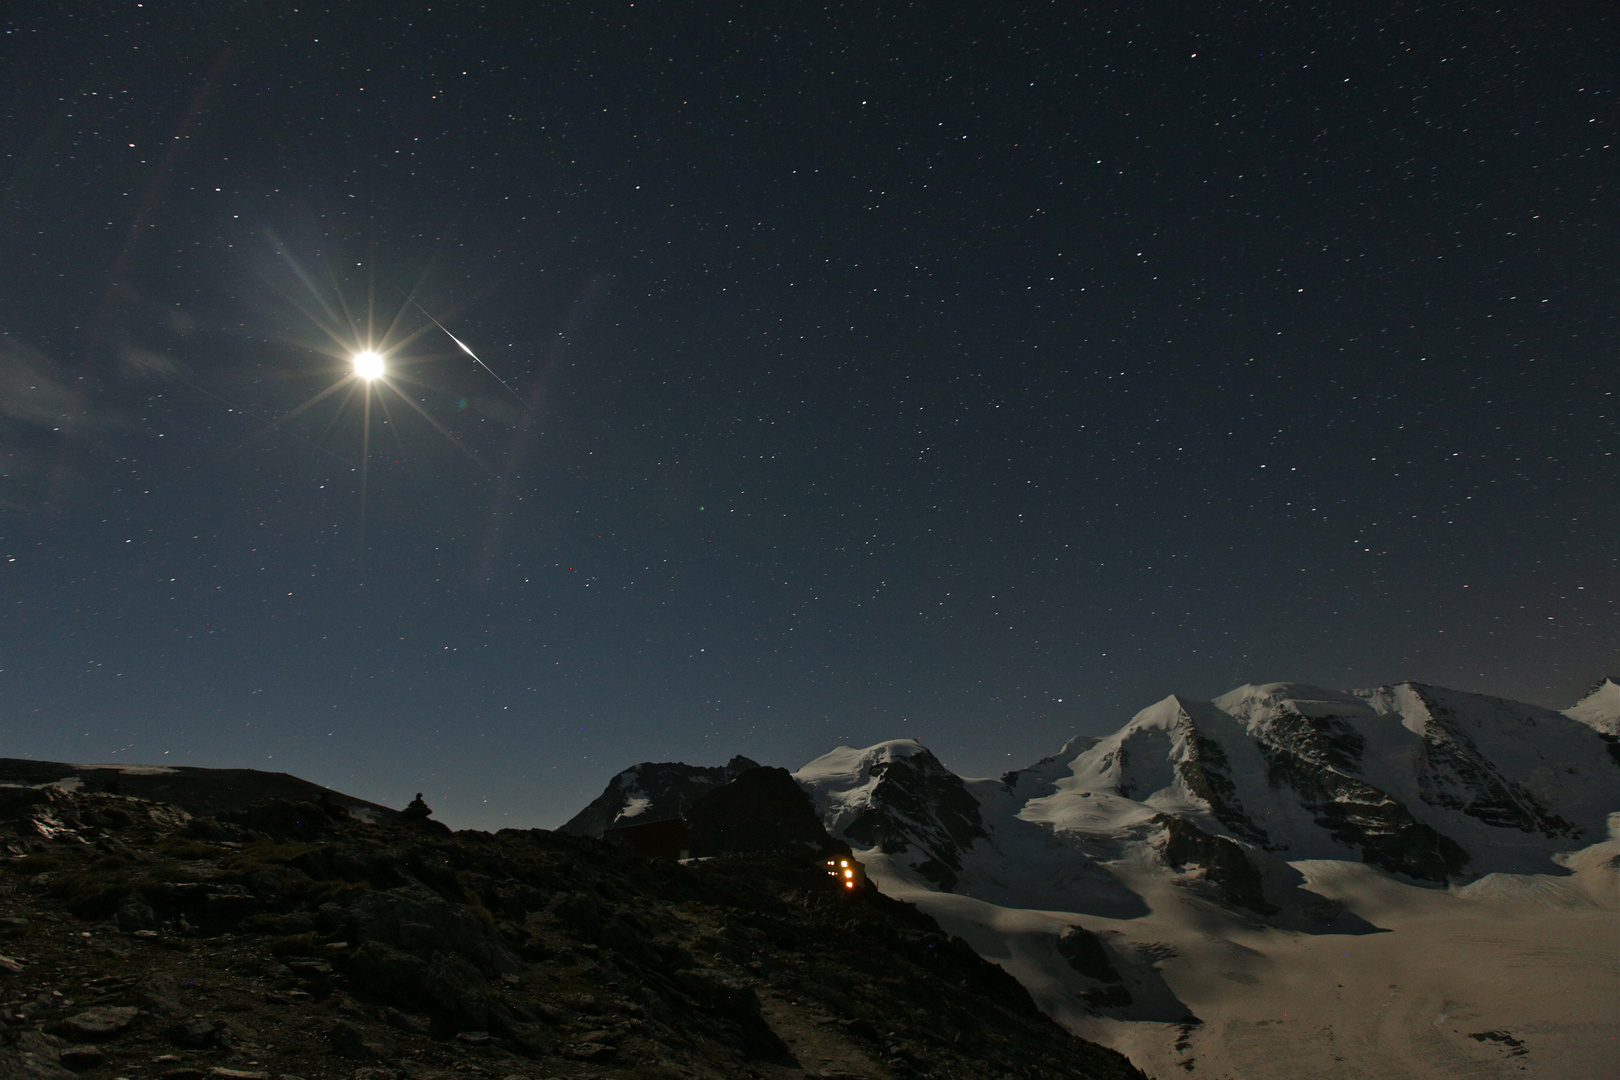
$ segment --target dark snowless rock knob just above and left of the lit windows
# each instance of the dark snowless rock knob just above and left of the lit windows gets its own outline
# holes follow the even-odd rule
[[[693,857],[727,852],[823,850],[833,837],[787,769],[748,769],[687,810]]]

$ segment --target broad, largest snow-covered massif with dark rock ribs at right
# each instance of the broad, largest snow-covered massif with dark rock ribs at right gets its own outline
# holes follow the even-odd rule
[[[1601,685],[1589,698],[1601,708],[1612,693]],[[1286,858],[1361,858],[1448,881],[1541,871],[1601,829],[1620,755],[1602,753],[1599,735],[1549,709],[1424,683],[1264,683],[1213,701],[1165,698],[1066,763],[1006,779],[1017,818],[1059,834],[1123,836],[1171,814]]]

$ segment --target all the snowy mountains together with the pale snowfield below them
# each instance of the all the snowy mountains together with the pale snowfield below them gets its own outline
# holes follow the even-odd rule
[[[795,779],[885,892],[1162,1080],[1596,1080],[1620,997],[1610,698],[1265,683],[1000,779],[912,740]]]

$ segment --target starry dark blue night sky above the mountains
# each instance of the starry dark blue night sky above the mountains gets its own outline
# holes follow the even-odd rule
[[[1244,682],[1565,708],[1620,669],[1617,23],[13,5],[0,756],[554,826]]]

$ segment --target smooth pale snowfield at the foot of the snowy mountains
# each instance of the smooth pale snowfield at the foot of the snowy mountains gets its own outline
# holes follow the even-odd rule
[[[1450,889],[1364,863],[1301,860],[1304,889],[1362,933],[1281,929],[1139,873],[1149,913],[1021,910],[920,887],[868,861],[880,887],[1011,972],[1076,1035],[1153,1080],[1609,1080],[1620,1035],[1620,845],[1568,853],[1570,878],[1489,874]],[[1056,942],[1105,942],[1132,996],[1087,1007],[1094,981]]]

